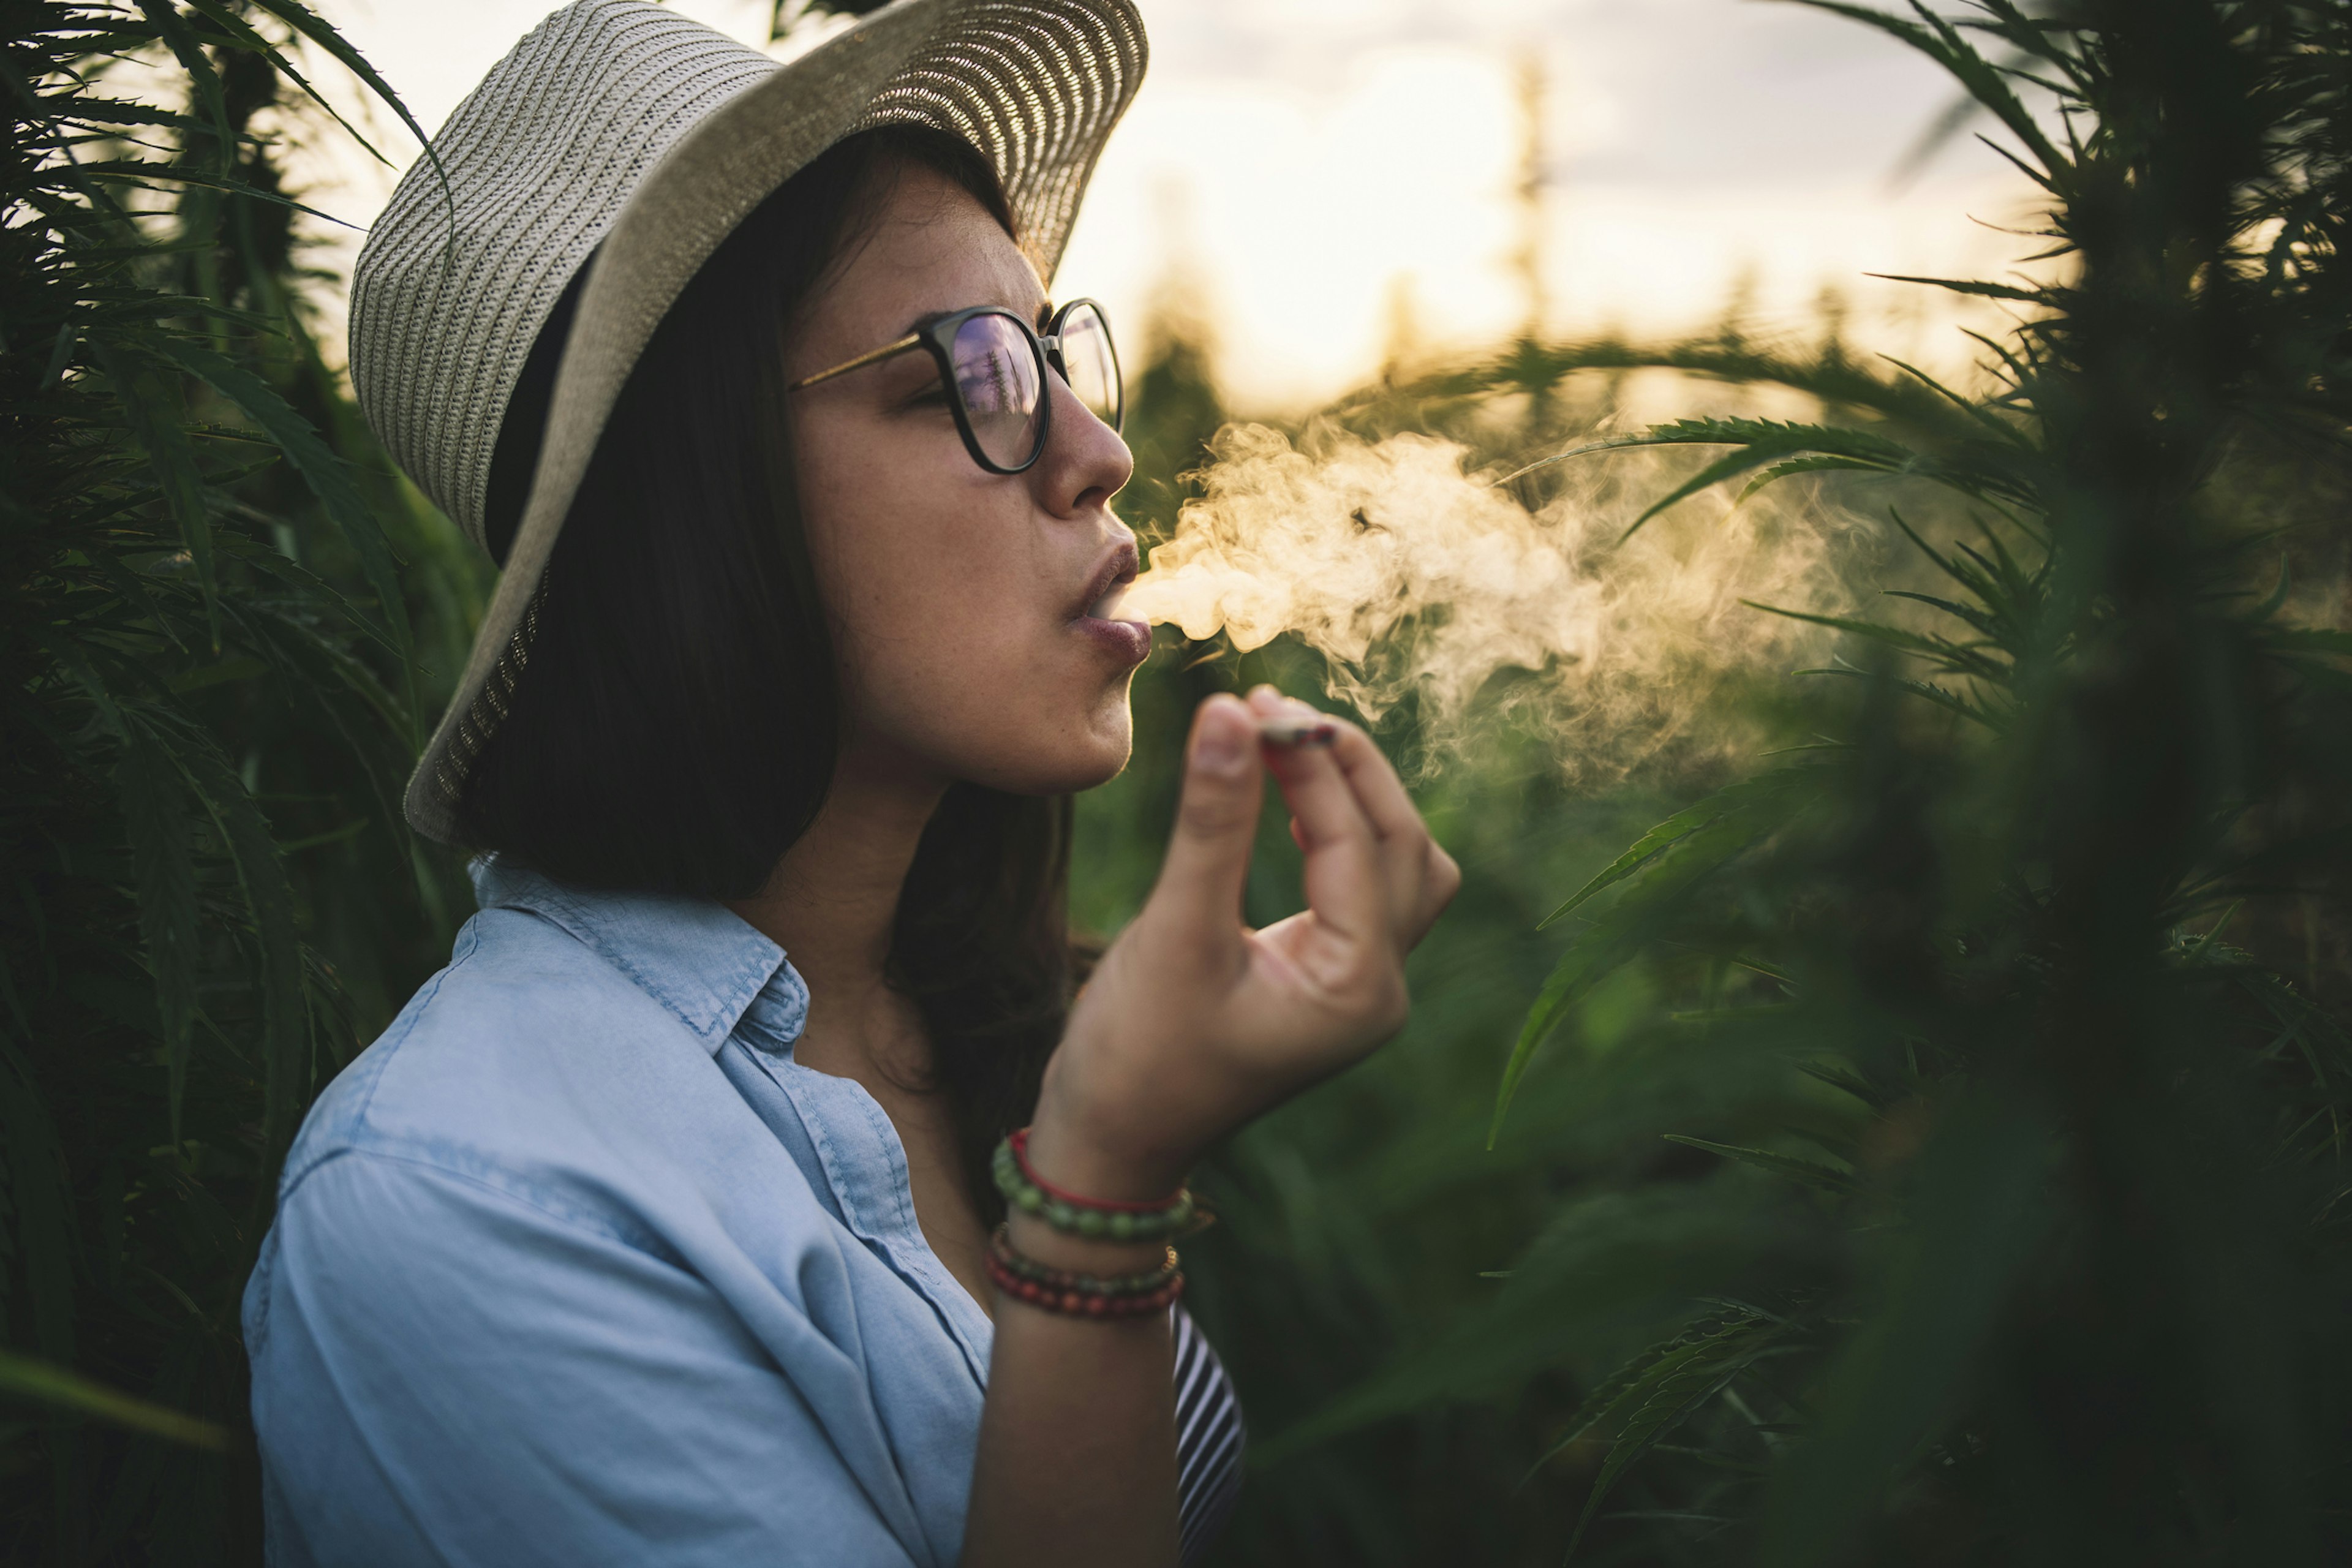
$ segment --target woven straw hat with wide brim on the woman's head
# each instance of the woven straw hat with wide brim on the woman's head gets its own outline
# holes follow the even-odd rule
[[[409,778],[416,832],[456,842],[456,797],[529,656],[532,599],[604,418],[734,226],[842,136],[913,120],[988,155],[1051,277],[1143,61],[1129,0],[898,0],[781,66],[659,5],[576,0],[492,66],[393,190],[350,284],[369,425],[485,548],[499,423],[555,301],[595,263],[506,571]]]

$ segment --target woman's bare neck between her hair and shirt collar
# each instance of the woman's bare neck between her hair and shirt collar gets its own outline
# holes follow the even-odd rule
[[[920,1020],[884,983],[898,891],[946,780],[873,745],[844,745],[833,790],[767,886],[729,903],[809,983],[807,1067],[898,1081],[929,1074]]]

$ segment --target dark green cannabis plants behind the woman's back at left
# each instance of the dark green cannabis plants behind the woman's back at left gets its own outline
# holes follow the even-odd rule
[[[473,569],[282,176],[306,71],[397,101],[296,0],[0,19],[0,1556],[254,1561],[278,1161],[461,898],[395,799]]]

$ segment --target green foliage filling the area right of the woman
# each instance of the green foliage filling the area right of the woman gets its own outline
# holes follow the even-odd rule
[[[1646,527],[1715,484],[1867,527],[1858,592],[1797,607],[1828,665],[1700,719],[1757,752],[1571,792],[1496,719],[1425,773],[1468,884],[1411,1027],[1209,1175],[1197,1312],[1256,1429],[1225,1561],[2352,1554],[2352,7],[1820,9],[1938,59],[2046,197],[2039,282],[1922,282],[2011,306],[1978,386],[1835,315],[1733,320],[1519,341],[1303,421],[1489,473],[1576,449],[1515,480],[1531,505],[1663,447],[1686,465],[1628,470]],[[1700,416],[1616,435],[1653,371]],[[1141,416],[1171,451],[1216,409]],[[1105,926],[1195,691],[1319,679],[1169,651],[1160,741],[1084,802]],[[1381,733],[1414,757],[1411,712]],[[1279,832],[1263,856],[1277,917]]]

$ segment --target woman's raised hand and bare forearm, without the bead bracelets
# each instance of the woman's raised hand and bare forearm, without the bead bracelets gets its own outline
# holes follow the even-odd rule
[[[1200,705],[1160,886],[1096,966],[1047,1065],[1028,1154],[1049,1182],[1112,1201],[1167,1197],[1214,1138],[1404,1023],[1404,954],[1461,872],[1362,731],[1334,724],[1329,748],[1261,748],[1261,719],[1308,712],[1270,689]],[[1251,931],[1242,884],[1265,769],[1305,851],[1308,910]],[[1162,1255],[1061,1234],[1018,1208],[1007,1225],[1014,1248],[1051,1267],[1134,1272]],[[1169,1373],[1157,1314],[1091,1321],[1000,1305],[964,1561],[1174,1568]]]

